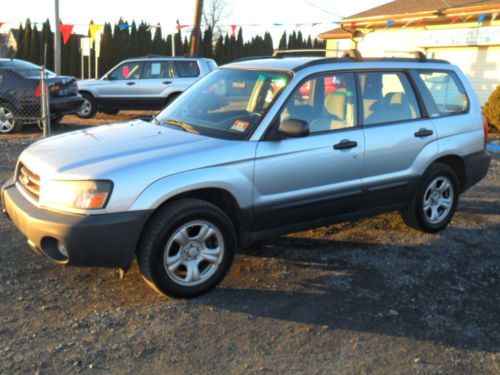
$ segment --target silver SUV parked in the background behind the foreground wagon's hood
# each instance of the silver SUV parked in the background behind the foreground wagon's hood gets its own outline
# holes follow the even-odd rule
[[[98,111],[115,114],[122,109],[160,110],[199,78],[217,67],[212,59],[149,55],[128,59],[101,79],[79,82],[84,103],[81,118]]]

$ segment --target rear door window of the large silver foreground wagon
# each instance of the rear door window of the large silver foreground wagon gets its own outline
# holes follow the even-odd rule
[[[360,73],[359,82],[365,125],[420,118],[417,99],[404,73]]]

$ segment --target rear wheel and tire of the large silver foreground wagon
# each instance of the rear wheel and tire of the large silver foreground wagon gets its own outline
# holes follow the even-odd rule
[[[401,211],[406,225],[426,233],[444,229],[455,214],[460,184],[455,171],[443,163],[432,164],[408,207]]]

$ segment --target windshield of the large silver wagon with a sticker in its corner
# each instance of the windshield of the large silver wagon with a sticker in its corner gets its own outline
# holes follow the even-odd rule
[[[218,69],[186,90],[157,121],[204,135],[245,139],[290,78],[275,71]]]

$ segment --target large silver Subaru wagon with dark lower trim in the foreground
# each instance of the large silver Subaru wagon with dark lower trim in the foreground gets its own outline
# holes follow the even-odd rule
[[[386,211],[442,230],[488,171],[486,137],[470,83],[442,60],[250,60],[153,122],[31,145],[2,197],[50,259],[124,271],[137,256],[149,285],[192,297],[222,280],[237,247],[269,236]]]

